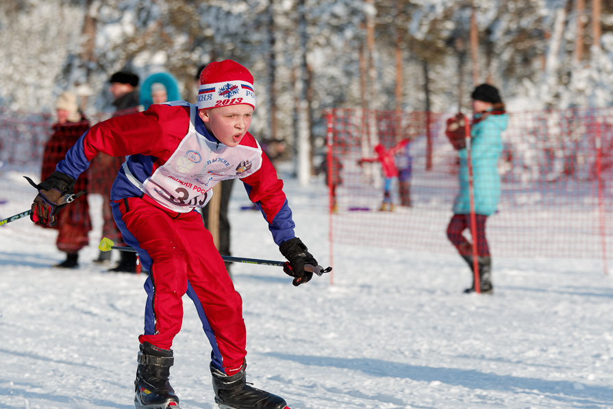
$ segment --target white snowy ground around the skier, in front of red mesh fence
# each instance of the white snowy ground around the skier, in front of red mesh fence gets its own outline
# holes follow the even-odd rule
[[[297,236],[327,266],[325,189],[287,179],[286,192]],[[100,198],[90,199],[95,212]],[[281,260],[262,216],[240,211],[247,204],[235,185],[233,255]],[[3,217],[22,210],[7,206]],[[53,232],[29,220],[0,227],[0,408],[134,408],[146,276],[92,264],[94,227],[71,271],[50,267],[64,256]],[[479,296],[462,293],[471,280],[458,256],[334,249],[334,284],[295,288],[278,267],[232,267],[247,380],[292,408],[613,407],[613,277],[601,260],[495,258],[495,295]],[[185,304],[171,383],[182,409],[216,408],[210,346]]]

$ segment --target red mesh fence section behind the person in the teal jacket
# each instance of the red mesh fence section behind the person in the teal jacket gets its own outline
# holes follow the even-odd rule
[[[613,108],[508,115],[498,163],[501,198],[486,225],[492,255],[606,260],[612,247]],[[327,111],[327,180],[336,186],[332,243],[455,253],[447,224],[460,190],[459,160],[445,136],[448,117]],[[405,138],[410,143],[402,149]],[[397,147],[391,212],[379,211],[383,166],[359,164],[376,156],[379,143]]]

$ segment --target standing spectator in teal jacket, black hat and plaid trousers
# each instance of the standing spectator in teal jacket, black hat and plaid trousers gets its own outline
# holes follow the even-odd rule
[[[500,175],[498,160],[502,153],[501,133],[506,129],[508,114],[499,91],[490,84],[481,84],[471,94],[473,99],[473,120],[471,121],[471,164],[473,166],[473,196],[477,230],[477,256],[481,293],[494,291],[491,280],[492,258],[486,238],[486,221],[496,212],[500,201]],[[456,116],[460,119],[460,116]],[[455,130],[454,129],[455,124]],[[455,134],[454,134],[455,130]],[[460,157],[460,193],[453,203],[453,217],[447,226],[447,237],[460,256],[473,270],[473,244],[462,234],[471,227],[471,197],[468,184],[468,152],[462,143],[462,125],[451,119],[447,122],[447,136]],[[454,141],[455,138],[455,141]],[[473,275],[474,277],[474,275]],[[465,293],[475,291],[473,286]]]

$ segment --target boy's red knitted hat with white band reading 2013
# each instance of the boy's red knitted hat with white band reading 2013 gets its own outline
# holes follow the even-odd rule
[[[198,109],[246,103],[255,110],[253,75],[232,60],[211,62],[200,73]]]

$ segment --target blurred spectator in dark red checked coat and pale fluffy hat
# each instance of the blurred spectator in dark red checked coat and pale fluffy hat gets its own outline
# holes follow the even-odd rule
[[[77,108],[77,96],[72,92],[62,92],[55,101],[57,121],[52,125],[53,134],[45,144],[42,156],[40,180],[47,180],[55,172],[55,165],[64,159],[66,151],[73,147],[77,140],[90,128],[90,123]],[[75,193],[88,188],[87,175],[81,175],[75,185]],[[79,250],[89,244],[88,232],[92,230],[90,222],[87,193],[66,206],[63,212],[57,214],[58,238],[55,245],[58,250],[66,253],[66,260],[55,267],[74,269],[79,265]]]

